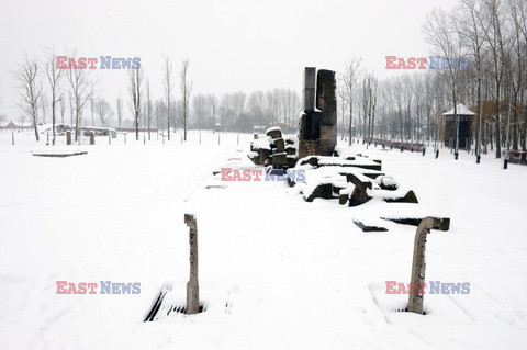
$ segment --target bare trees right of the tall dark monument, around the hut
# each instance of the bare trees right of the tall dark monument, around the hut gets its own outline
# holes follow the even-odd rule
[[[526,149],[526,24],[524,0],[459,0],[451,11],[431,11],[423,29],[430,56],[468,60],[468,69],[446,65],[379,80],[350,59],[338,89],[343,137],[435,140],[441,113],[453,108],[459,121],[463,103],[476,113],[476,155]]]

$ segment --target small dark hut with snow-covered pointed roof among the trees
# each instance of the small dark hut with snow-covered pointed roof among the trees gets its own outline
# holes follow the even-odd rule
[[[472,136],[471,125],[475,113],[460,103],[456,108],[456,114],[459,121],[459,148],[466,148]],[[442,116],[445,117],[445,146],[453,148],[456,147],[456,115],[453,109],[442,113]]]

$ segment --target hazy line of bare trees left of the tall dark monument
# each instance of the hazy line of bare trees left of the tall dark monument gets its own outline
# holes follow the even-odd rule
[[[179,76],[175,77],[173,63],[162,57],[162,95],[153,99],[150,80],[145,69],[128,70],[127,97],[117,95],[112,102],[98,93],[98,82],[86,69],[57,69],[53,49],[43,49],[44,59],[24,56],[12,71],[19,90],[22,124],[29,118],[38,140],[38,125],[53,124],[52,144],[55,144],[55,125],[69,124],[78,139],[79,127],[116,126],[139,129],[156,128],[170,133],[181,128],[187,140],[189,128],[253,132],[255,126],[281,125],[293,131],[300,112],[300,97],[291,89],[268,91],[227,92],[222,95],[193,93],[190,60],[183,59]],[[178,79],[179,78],[179,79]],[[45,93],[44,91],[48,91]],[[131,120],[125,118],[126,109]],[[69,109],[69,121],[67,110]]]

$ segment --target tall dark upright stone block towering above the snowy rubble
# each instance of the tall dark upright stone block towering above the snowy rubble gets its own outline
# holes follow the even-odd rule
[[[316,72],[314,67],[304,69],[304,113],[300,120],[299,158],[333,156],[337,145],[335,90],[335,71],[321,69]]]

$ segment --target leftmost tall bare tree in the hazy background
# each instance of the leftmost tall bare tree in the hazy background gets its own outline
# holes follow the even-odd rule
[[[25,56],[24,60],[19,64],[16,71],[12,72],[13,78],[19,89],[19,94],[22,98],[21,108],[24,113],[27,113],[33,118],[33,127],[35,131],[35,138],[38,142],[37,127],[37,101],[42,93],[42,82],[40,81],[40,66],[36,59]]]

